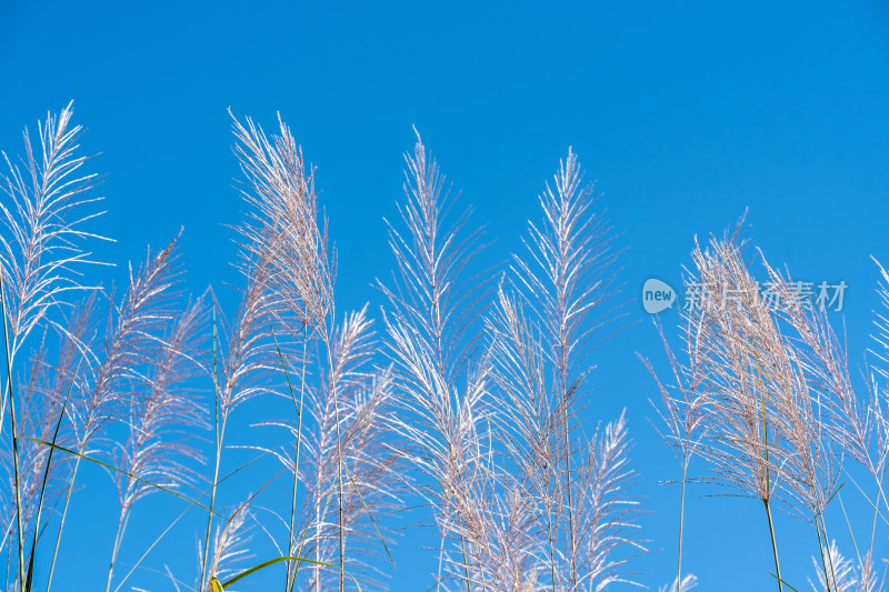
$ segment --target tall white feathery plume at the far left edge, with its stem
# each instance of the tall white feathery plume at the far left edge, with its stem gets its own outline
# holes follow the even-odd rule
[[[97,178],[94,174],[77,177],[87,157],[77,155],[81,128],[69,129],[71,114],[69,103],[58,117],[47,116],[46,123],[39,127],[39,157],[24,131],[23,172],[2,152],[9,169],[8,174],[2,175],[2,185],[9,200],[0,203],[4,229],[0,233],[0,301],[7,358],[7,384],[0,394],[0,433],[9,404],[21,586],[26,585],[23,512],[12,367],[16,354],[33,329],[41,322],[50,325],[56,322],[49,312],[63,303],[61,294],[86,289],[74,277],[79,264],[90,262],[81,243],[86,238],[100,238],[83,230],[88,220],[99,215],[82,211],[82,205],[97,201],[88,197]]]

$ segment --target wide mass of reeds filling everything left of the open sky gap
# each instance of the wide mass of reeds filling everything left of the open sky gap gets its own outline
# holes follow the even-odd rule
[[[70,106],[48,117],[39,149],[26,134],[0,208],[7,590],[68,584],[56,565],[72,544],[62,534],[76,492],[96,486],[84,462],[118,493],[108,592],[132,585],[189,512],[206,521],[193,572],[163,565],[176,590],[232,590],[267,570],[287,592],[384,588],[389,519],[418,498],[436,525],[437,590],[636,583],[628,562],[645,546],[627,418],[583,429],[590,354],[620,314],[613,234],[573,152],[540,195],[523,254],[493,269],[480,267],[482,229],[469,211],[452,215],[418,136],[389,227],[396,269],[378,283],[378,335],[367,307],[336,307],[314,170],[280,119],[271,136],[233,120],[248,205],[233,225],[233,310],[220,288],[187,294],[178,237],[120,288],[83,282],[87,245],[103,239],[90,230],[97,178],[82,172],[70,118]],[[247,405],[262,417],[239,441]],[[232,449],[258,455],[237,464]],[[263,459],[277,463],[268,479],[232,486]],[[152,493],[184,509],[136,541],[128,525]]]

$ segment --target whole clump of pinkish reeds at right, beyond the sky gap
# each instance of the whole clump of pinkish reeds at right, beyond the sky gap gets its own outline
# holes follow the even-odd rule
[[[696,242],[690,280],[700,298],[683,312],[680,333],[688,361],[678,362],[667,347],[675,383],[658,382],[665,439],[682,470],[677,582],[685,486],[689,460],[697,454],[709,465],[700,481],[763,503],[779,590],[790,584],[779,562],[776,503],[813,526],[819,590],[879,590],[882,578],[873,569],[873,553],[880,508],[886,506],[887,459],[887,391],[878,380],[880,369],[868,364],[873,368],[866,372],[869,395],[859,399],[829,312],[801,298],[801,284],[759,253],[771,299],[766,301],[750,271],[741,225],[712,238],[706,249]],[[878,317],[880,327],[883,322]],[[839,555],[825,519],[835,499],[842,504],[840,480],[849,475],[845,459],[857,461],[876,482],[876,495],[867,500],[873,510],[869,544],[856,543],[857,564]]]

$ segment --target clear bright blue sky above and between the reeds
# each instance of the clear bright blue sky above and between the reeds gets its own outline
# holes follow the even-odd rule
[[[678,492],[656,484],[676,466],[647,422],[655,390],[635,352],[663,359],[637,300],[642,282],[678,284],[693,237],[749,208],[749,237],[773,264],[849,284],[835,319],[855,363],[869,345],[869,257],[889,263],[889,9],[877,1],[6,0],[0,76],[0,149],[17,153],[26,124],[73,99],[84,149],[101,152],[93,170],[107,173],[100,230],[118,240],[98,254],[122,279],[120,265],[183,225],[196,292],[238,280],[223,225],[242,212],[227,109],[267,127],[280,111],[318,167],[340,310],[379,300],[370,283],[392,264],[383,218],[396,215],[411,126],[488,224],[491,261],[519,248],[537,193],[572,146],[620,233],[629,318],[642,321],[599,351],[590,413],[628,409],[653,512],[646,536],[663,549],[637,565],[655,588],[673,573]],[[76,499],[97,516],[86,544],[71,536],[63,550],[76,581],[104,569],[111,532],[99,516],[110,495],[109,483]],[[137,512],[148,529],[146,514],[169,509],[152,501]],[[686,569],[701,590],[771,585],[760,513],[752,501],[691,499]],[[788,516],[778,522],[786,571],[803,582],[813,536]],[[180,539],[171,549],[190,553],[191,533]],[[392,588],[426,590],[428,555],[399,545]]]

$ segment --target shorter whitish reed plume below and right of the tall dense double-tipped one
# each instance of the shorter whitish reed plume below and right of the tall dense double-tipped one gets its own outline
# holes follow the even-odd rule
[[[344,491],[342,511],[349,571],[350,574],[363,572],[364,582],[372,582],[372,568],[368,560],[377,556],[373,542],[382,536],[377,520],[391,510],[394,501],[390,481],[391,465],[396,460],[387,443],[386,430],[391,382],[388,372],[372,372],[370,369],[378,347],[370,328],[371,321],[364,310],[351,313],[337,328],[333,367],[324,371],[323,360],[319,359],[319,388],[307,392],[304,432],[299,432],[299,424],[267,422],[290,430],[293,439],[301,441],[304,448],[302,466],[294,466],[291,446],[277,452],[281,463],[298,471],[306,484],[296,521],[299,528],[292,533],[299,539],[294,541],[298,543],[297,556],[337,563],[341,529],[339,508],[333,501],[338,498],[338,466],[342,466],[351,485]],[[337,403],[332,384],[337,384],[339,415],[334,412]],[[338,458],[339,454],[342,459]],[[300,574],[304,574],[300,590],[322,590],[340,576],[318,564],[308,568],[297,564],[294,568],[293,584]]]

